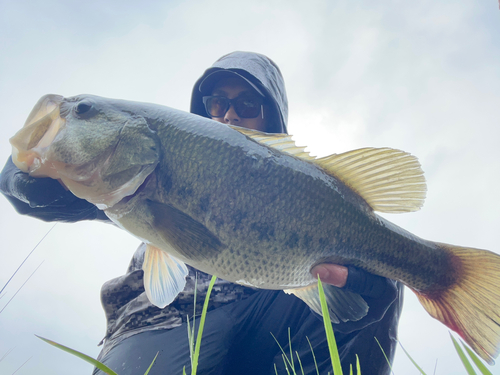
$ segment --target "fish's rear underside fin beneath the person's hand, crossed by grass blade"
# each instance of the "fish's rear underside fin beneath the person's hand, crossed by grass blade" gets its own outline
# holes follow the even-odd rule
[[[368,304],[359,294],[329,284],[323,284],[323,291],[332,323],[358,321],[368,313]],[[304,301],[314,312],[323,315],[319,300],[318,284],[311,284],[299,289],[286,289],[284,292],[294,294]]]

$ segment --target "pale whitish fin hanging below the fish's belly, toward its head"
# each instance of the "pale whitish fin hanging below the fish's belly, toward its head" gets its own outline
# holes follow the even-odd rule
[[[146,295],[153,305],[161,309],[186,286],[186,265],[152,245],[147,245],[142,269]]]

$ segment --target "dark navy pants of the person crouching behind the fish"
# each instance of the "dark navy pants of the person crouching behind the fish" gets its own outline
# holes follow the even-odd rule
[[[392,359],[400,307],[396,301],[380,322],[363,330],[336,333],[344,374],[349,374],[350,364],[355,373],[356,354],[363,375],[389,374],[389,366],[374,337]],[[278,374],[287,374],[282,351],[273,335],[288,357],[291,342],[294,356],[297,352],[300,357],[304,374],[316,374],[309,338],[319,373],[333,373],[323,321],[295,296],[268,290],[207,314],[197,373],[272,375],[276,366]],[[119,375],[143,375],[159,352],[150,375],[181,375],[184,366],[190,374],[187,337],[186,324],[171,330],[139,333],[117,341],[106,354],[101,353],[99,360]],[[301,374],[297,357],[293,361],[297,373]],[[97,369],[93,374],[104,375]]]

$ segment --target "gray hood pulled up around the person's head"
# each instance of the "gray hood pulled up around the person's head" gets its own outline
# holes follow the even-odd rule
[[[200,84],[209,75],[229,70],[243,76],[252,86],[264,94],[269,101],[272,119],[269,121],[269,133],[286,133],[288,122],[288,99],[285,81],[278,66],[268,57],[254,52],[232,52],[222,56],[212,67],[196,81],[191,96],[191,113],[209,117],[203,105]]]

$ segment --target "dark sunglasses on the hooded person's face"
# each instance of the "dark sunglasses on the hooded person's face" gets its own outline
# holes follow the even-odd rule
[[[224,117],[231,105],[241,118],[255,118],[262,111],[264,98],[255,96],[238,96],[234,99],[225,96],[204,96],[203,104],[210,117]]]

